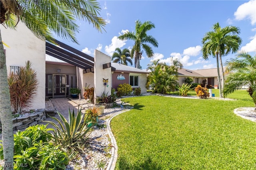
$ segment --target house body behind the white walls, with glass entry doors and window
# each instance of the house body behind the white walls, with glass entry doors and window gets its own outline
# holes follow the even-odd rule
[[[111,63],[111,67],[112,81],[108,81],[111,88],[117,89],[119,84],[127,83],[132,88],[141,88],[142,93],[147,92],[147,71],[118,63]],[[52,82],[55,82],[54,86]],[[94,87],[94,72],[85,72],[82,68],[46,55],[46,97],[68,96],[69,89],[77,86],[80,89],[84,89],[85,86]]]

